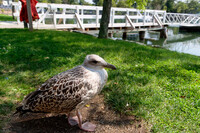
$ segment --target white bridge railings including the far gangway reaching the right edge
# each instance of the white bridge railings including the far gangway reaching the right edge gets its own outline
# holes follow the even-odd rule
[[[13,2],[14,16],[20,22],[20,2]],[[102,7],[68,4],[36,5],[40,19],[34,27],[52,29],[97,29],[100,27]],[[141,11],[133,8],[111,8],[109,28],[142,29],[163,27],[164,25],[199,26],[200,15],[167,13],[163,10]]]

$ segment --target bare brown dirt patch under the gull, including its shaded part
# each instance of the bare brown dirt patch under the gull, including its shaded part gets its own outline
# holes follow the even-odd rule
[[[134,116],[119,115],[109,109],[102,95],[96,96],[89,107],[80,110],[83,121],[97,125],[95,133],[146,133],[143,120]],[[35,117],[36,118],[36,117]],[[85,133],[78,126],[70,126],[66,115],[31,119],[22,122],[11,121],[6,132],[12,133]]]

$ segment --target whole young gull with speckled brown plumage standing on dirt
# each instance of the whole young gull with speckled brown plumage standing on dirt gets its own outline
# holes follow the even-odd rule
[[[70,125],[78,124],[82,130],[95,131],[94,124],[82,124],[79,109],[99,94],[106,84],[108,74],[105,67],[116,69],[98,55],[87,55],[82,65],[53,76],[28,94],[16,112],[66,113]],[[72,111],[76,116],[71,115]]]

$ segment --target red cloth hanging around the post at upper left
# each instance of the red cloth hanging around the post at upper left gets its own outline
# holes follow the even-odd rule
[[[26,7],[26,0],[20,0],[22,2],[22,8],[20,11],[20,21],[26,21],[28,23],[28,12]],[[37,10],[35,8],[36,4],[38,3],[36,0],[30,0],[31,1],[31,14],[32,14],[32,20],[39,19]]]

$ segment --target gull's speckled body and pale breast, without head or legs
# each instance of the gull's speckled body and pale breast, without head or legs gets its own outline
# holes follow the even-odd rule
[[[23,110],[69,113],[97,95],[107,81],[105,69],[93,70],[82,65],[47,80],[23,100]]]

